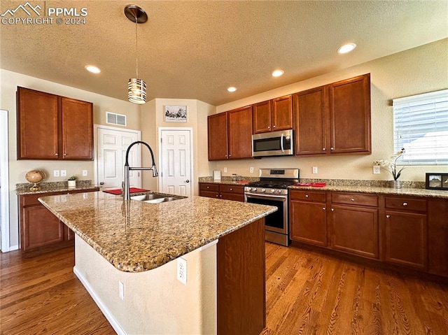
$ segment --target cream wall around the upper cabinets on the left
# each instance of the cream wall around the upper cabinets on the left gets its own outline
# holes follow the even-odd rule
[[[92,79],[94,80],[94,78]],[[78,90],[73,87],[52,83],[47,80],[25,76],[20,73],[0,69],[0,109],[8,111],[9,125],[9,185],[10,185],[10,248],[18,248],[19,224],[18,224],[18,204],[15,194],[15,184],[27,183],[25,174],[29,170],[40,169],[47,173],[48,179],[45,181],[62,181],[66,177],[53,177],[52,170],[65,169],[67,176],[76,175],[80,180],[94,178],[93,161],[46,161],[46,160],[17,160],[17,127],[16,127],[16,100],[15,93],[17,87],[27,87],[31,90],[48,92],[64,97],[90,101],[93,103],[93,114],[95,124],[106,124],[106,111],[127,115],[128,129],[140,130],[139,106],[130,102],[106,97],[104,95]],[[123,90],[126,90],[126,83],[123,83]],[[82,170],[87,170],[88,176],[82,176]]]

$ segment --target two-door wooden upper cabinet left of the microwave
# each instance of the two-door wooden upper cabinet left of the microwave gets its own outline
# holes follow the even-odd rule
[[[209,160],[252,157],[252,106],[210,115]]]

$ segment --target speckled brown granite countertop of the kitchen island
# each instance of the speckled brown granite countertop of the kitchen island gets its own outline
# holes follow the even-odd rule
[[[276,207],[189,197],[160,204],[104,192],[39,201],[120,271],[155,269],[276,211]]]

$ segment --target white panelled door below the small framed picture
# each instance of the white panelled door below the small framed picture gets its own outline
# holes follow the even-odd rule
[[[190,196],[192,191],[192,129],[160,131],[160,191]]]

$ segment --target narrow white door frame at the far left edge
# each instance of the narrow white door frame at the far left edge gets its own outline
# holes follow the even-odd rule
[[[0,109],[0,206],[1,206],[1,252],[10,251],[9,239],[9,142],[8,111]]]

